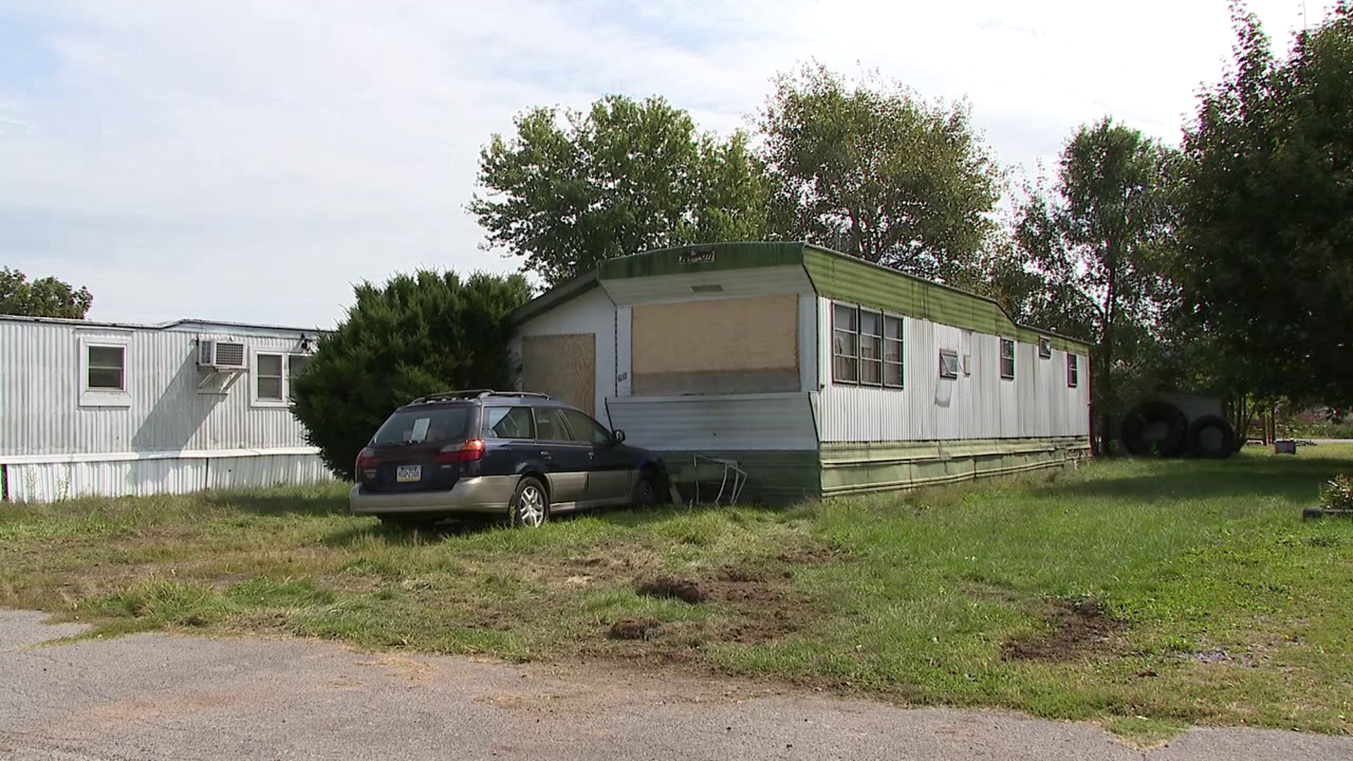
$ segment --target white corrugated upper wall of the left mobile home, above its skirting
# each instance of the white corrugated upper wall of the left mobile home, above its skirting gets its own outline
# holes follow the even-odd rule
[[[127,341],[130,406],[80,406],[81,337]],[[253,349],[299,351],[299,334],[239,337]],[[225,394],[199,394],[195,340],[179,330],[0,321],[0,458],[306,444],[290,410],[250,406],[248,374]]]

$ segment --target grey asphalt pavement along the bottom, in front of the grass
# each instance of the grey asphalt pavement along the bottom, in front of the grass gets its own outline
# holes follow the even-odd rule
[[[1193,730],[1142,753],[1092,724],[839,700],[578,664],[308,640],[77,634],[0,611],[0,758],[1350,758],[1353,739]]]

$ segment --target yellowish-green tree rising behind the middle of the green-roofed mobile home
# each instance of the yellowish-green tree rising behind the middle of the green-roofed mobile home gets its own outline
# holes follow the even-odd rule
[[[965,104],[805,66],[777,80],[760,131],[783,237],[955,280],[994,226],[1001,177]]]

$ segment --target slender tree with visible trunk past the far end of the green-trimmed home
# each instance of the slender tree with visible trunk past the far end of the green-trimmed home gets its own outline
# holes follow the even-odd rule
[[[1138,130],[1101,119],[1062,150],[1055,186],[1035,187],[1016,237],[1042,278],[1032,310],[1095,344],[1092,399],[1099,448],[1108,451],[1119,404],[1115,376],[1149,344],[1170,284],[1174,153]]]

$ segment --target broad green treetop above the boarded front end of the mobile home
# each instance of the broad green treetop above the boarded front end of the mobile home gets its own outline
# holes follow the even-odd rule
[[[700,134],[662,97],[618,95],[514,123],[480,152],[484,195],[468,209],[549,284],[651,248],[766,236],[767,184],[743,133]]]

